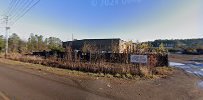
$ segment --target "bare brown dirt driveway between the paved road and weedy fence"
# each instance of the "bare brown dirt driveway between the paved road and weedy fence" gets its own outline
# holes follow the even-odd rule
[[[80,84],[91,90],[125,100],[202,100],[199,79],[176,70],[172,76],[156,80],[82,80]],[[108,86],[109,85],[109,86]]]

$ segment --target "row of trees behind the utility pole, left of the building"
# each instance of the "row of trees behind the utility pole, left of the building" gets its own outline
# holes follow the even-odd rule
[[[44,38],[42,35],[31,33],[27,40],[21,39],[16,33],[8,38],[10,53],[32,53],[40,51],[63,51],[62,41],[56,37]],[[0,36],[0,52],[5,51],[5,38]]]

